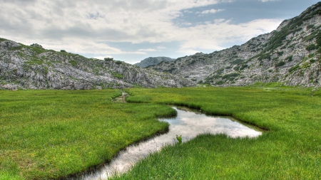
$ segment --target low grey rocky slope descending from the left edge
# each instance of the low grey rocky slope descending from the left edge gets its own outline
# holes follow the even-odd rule
[[[176,75],[118,60],[98,60],[0,38],[0,89],[101,89],[195,85]]]

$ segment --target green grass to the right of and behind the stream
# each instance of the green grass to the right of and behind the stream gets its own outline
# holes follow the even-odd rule
[[[130,89],[128,102],[185,105],[269,129],[257,139],[200,135],[113,179],[321,179],[321,93],[300,88]]]

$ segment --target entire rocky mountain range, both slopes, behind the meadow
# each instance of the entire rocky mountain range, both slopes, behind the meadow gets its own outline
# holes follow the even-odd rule
[[[250,85],[321,87],[321,2],[283,21],[271,33],[222,51],[142,60],[140,68],[118,60],[26,46],[0,38],[0,89],[101,89]],[[157,65],[150,65],[158,62]],[[149,65],[149,66],[148,66]]]

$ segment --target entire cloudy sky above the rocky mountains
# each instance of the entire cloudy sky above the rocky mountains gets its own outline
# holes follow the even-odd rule
[[[269,33],[317,0],[0,0],[0,37],[127,63],[211,53]]]

